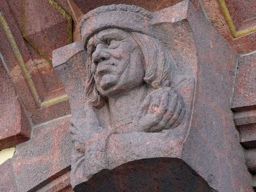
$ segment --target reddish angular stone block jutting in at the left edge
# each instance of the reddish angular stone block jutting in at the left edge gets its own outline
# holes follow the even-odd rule
[[[0,150],[29,140],[31,125],[14,84],[0,61]]]

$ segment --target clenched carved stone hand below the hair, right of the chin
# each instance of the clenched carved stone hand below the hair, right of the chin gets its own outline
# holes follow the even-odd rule
[[[139,131],[157,132],[177,127],[185,114],[181,96],[170,88],[152,91],[141,104]]]

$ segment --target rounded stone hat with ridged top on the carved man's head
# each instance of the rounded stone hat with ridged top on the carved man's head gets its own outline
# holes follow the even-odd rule
[[[84,45],[96,32],[107,28],[125,29],[148,34],[153,13],[132,5],[101,6],[84,15],[79,23],[79,32]]]

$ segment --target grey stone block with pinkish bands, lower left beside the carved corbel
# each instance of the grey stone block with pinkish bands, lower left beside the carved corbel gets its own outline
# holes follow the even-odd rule
[[[32,139],[13,157],[19,192],[36,191],[70,170],[69,116],[34,128]]]

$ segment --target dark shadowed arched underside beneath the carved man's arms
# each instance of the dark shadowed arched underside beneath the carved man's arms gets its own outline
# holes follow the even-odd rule
[[[104,169],[80,183],[76,192],[216,192],[178,158],[134,160]]]

